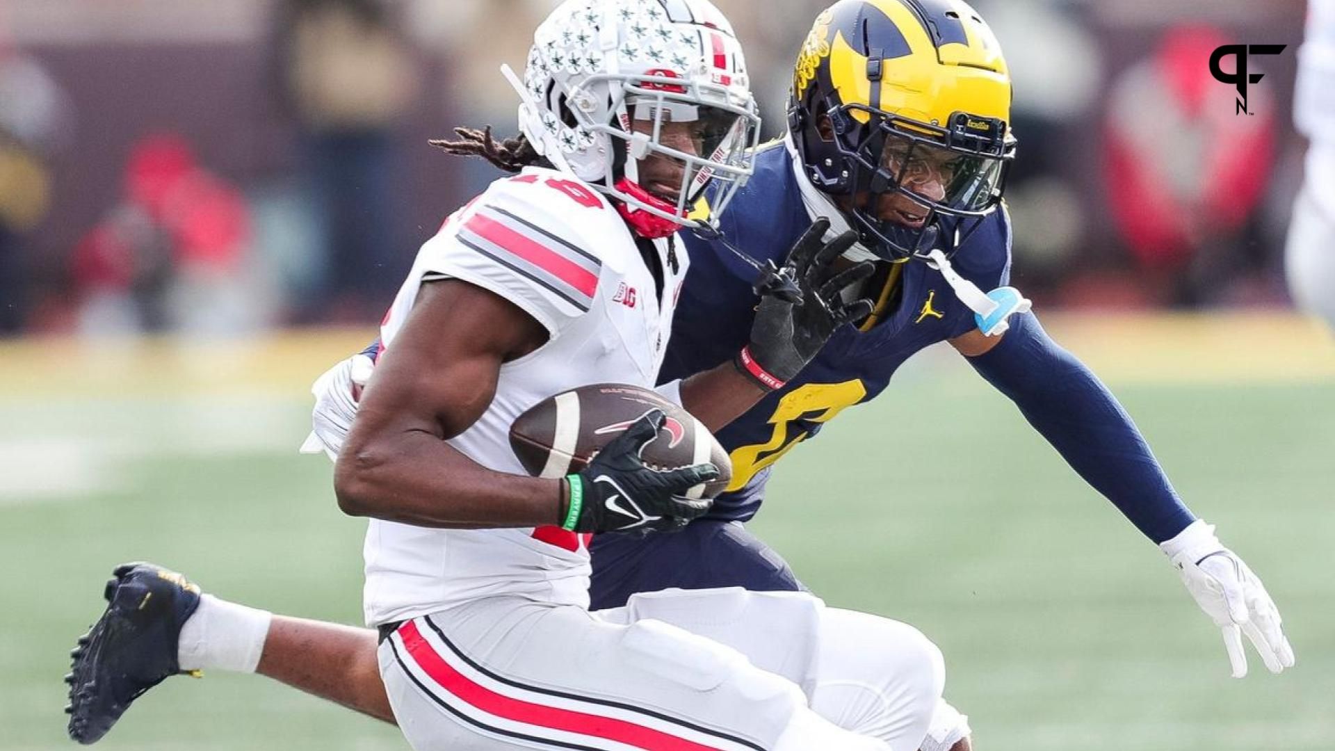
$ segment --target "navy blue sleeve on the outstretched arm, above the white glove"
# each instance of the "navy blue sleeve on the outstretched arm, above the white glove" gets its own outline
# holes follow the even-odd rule
[[[969,362],[1147,537],[1163,543],[1195,521],[1127,410],[1032,314]]]

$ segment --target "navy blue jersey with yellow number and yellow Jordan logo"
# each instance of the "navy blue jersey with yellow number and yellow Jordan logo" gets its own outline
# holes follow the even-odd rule
[[[721,219],[726,242],[758,261],[781,263],[812,220],[782,143],[762,147],[756,175]],[[690,271],[677,305],[661,381],[685,378],[729,361],[746,345],[756,305],[756,270],[722,242],[682,233]],[[956,271],[984,291],[1004,286],[1011,267],[1011,223],[997,211],[952,258]],[[881,393],[898,366],[918,350],[976,327],[973,311],[926,263],[904,263],[890,306],[869,330],[845,326],[789,384],[718,432],[733,460],[733,485],[710,517],[748,520],[760,505],[770,465],[817,434],[841,410]]]

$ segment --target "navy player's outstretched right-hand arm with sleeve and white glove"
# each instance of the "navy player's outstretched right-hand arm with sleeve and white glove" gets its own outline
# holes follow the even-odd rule
[[[1131,416],[1084,363],[1032,314],[1015,318],[999,341],[967,334],[952,343],[1080,477],[1168,555],[1223,631],[1234,676],[1247,673],[1243,633],[1272,672],[1292,667],[1292,647],[1260,579],[1183,505]]]

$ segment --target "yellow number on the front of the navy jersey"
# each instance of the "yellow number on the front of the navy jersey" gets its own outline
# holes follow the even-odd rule
[[[829,422],[844,409],[866,397],[866,386],[861,381],[842,384],[808,384],[778,400],[769,424],[774,434],[769,442],[741,446],[732,453],[733,481],[729,490],[741,490],[757,472],[778,461],[789,449],[800,444],[809,433],[797,429],[793,422]]]

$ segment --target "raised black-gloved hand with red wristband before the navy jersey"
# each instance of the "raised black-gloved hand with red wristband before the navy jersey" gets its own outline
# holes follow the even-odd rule
[[[776,294],[762,295],[752,322],[750,343],[734,361],[738,370],[765,389],[784,388],[821,351],[836,329],[872,313],[872,301],[844,302],[842,293],[870,277],[874,266],[864,261],[836,271],[834,261],[853,247],[857,235],[844,233],[826,243],[824,237],[829,227],[829,219],[817,219],[793,245],[780,269],[780,274],[796,279],[802,299],[793,302]]]

